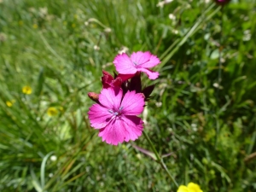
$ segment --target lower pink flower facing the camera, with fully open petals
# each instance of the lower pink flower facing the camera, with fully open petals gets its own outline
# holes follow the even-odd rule
[[[118,87],[103,89],[99,103],[89,109],[90,125],[99,129],[99,137],[108,144],[134,141],[142,135],[143,120],[136,115],[143,112],[143,94],[123,90]]]

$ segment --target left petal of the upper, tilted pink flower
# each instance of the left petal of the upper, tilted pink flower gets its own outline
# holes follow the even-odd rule
[[[137,73],[137,68],[134,67],[131,59],[128,55],[123,53],[122,55],[117,55],[114,60],[113,64],[118,73],[121,74],[134,74]]]

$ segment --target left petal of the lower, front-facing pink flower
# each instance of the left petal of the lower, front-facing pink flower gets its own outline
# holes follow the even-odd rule
[[[113,114],[108,112],[108,108],[104,108],[102,105],[94,104],[89,108],[90,125],[95,129],[102,129],[108,125]]]

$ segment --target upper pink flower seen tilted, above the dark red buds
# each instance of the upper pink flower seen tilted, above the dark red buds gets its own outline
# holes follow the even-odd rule
[[[159,63],[159,58],[152,55],[149,51],[138,51],[132,53],[131,57],[123,53],[122,55],[117,55],[113,60],[113,64],[119,73],[119,77],[123,80],[130,79],[137,72],[146,73],[149,79],[157,79],[159,73],[148,68],[154,67]]]

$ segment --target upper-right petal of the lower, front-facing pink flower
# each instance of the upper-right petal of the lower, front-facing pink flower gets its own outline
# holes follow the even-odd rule
[[[136,93],[135,90],[128,90],[120,106],[124,115],[137,115],[143,113],[144,105],[145,102],[142,94]]]

